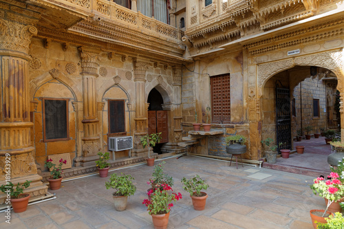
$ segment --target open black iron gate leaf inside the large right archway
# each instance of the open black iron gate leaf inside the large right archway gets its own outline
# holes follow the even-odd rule
[[[290,122],[290,90],[283,88],[279,80],[276,82],[276,135],[280,149],[292,149],[292,134]],[[279,152],[280,153],[280,152]]]

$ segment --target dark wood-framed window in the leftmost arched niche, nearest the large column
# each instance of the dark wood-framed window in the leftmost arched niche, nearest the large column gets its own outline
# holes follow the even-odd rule
[[[43,98],[43,141],[69,140],[68,99]]]

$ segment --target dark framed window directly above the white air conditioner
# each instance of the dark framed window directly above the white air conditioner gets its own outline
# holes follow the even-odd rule
[[[125,133],[125,100],[109,100],[109,134]]]

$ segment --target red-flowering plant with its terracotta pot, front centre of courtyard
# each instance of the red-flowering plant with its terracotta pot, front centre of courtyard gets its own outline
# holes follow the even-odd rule
[[[173,207],[172,201],[179,199],[182,199],[182,194],[173,193],[168,184],[162,184],[162,190],[160,188],[155,189],[151,195],[151,200],[144,199],[142,204],[147,206],[154,228],[167,228],[170,210]]]

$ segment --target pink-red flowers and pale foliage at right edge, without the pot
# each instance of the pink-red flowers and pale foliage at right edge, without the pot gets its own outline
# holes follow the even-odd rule
[[[330,173],[329,176],[327,176],[327,180],[325,180],[323,177],[318,177],[314,179],[314,184],[310,186],[310,188],[313,190],[313,193],[316,195],[316,193],[319,194],[319,196],[324,197],[328,199],[327,206],[325,209],[325,212],[323,212],[323,217],[325,213],[327,212],[327,208],[335,201],[338,201],[339,199],[343,198],[344,194],[344,185],[339,180],[338,173]]]

